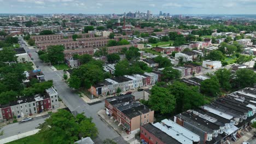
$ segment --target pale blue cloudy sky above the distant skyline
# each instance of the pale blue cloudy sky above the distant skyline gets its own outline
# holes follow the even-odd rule
[[[0,13],[256,14],[256,0],[0,0]]]

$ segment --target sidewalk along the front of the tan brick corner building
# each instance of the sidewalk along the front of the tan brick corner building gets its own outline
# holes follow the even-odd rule
[[[118,121],[115,121],[113,117],[109,117],[105,110],[100,110],[97,112],[97,114],[101,117],[102,121],[105,121],[108,123],[108,125],[110,125],[110,127],[117,131],[117,133],[121,135],[125,141],[133,144],[139,143],[139,141],[135,139],[135,135],[138,133],[139,129],[131,131],[131,134],[127,134],[125,130],[123,130],[123,126],[119,125]]]

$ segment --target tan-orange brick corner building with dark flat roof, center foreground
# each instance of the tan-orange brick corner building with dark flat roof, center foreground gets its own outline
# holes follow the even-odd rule
[[[154,122],[154,111],[147,106],[134,102],[131,94],[121,95],[105,100],[107,115],[113,117],[130,133],[141,125]]]

